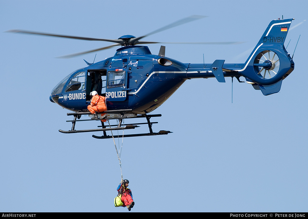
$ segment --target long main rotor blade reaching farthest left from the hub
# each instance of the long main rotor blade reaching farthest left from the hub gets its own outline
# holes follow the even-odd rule
[[[69,35],[61,35],[61,34],[33,32],[33,31],[28,31],[28,30],[7,30],[5,32],[20,33],[20,34],[35,34],[35,35],[43,35],[43,36],[51,36],[51,37],[79,39],[79,40],[107,41],[107,42],[115,42],[115,43],[120,43],[120,44],[123,42],[123,40],[119,40],[119,39],[112,40],[112,39],[99,39],[99,38],[89,38],[89,37],[77,37],[77,36],[69,36]]]

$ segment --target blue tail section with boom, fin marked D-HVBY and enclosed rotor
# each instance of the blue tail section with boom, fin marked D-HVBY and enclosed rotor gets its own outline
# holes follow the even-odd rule
[[[223,77],[243,76],[255,88],[258,85],[264,95],[279,92],[281,81],[294,70],[293,59],[284,47],[292,20],[271,21],[244,64],[224,64],[225,60],[188,64],[187,79],[215,77],[225,82]]]

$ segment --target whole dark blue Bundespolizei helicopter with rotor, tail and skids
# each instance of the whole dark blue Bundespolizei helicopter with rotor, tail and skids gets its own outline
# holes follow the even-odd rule
[[[165,56],[165,46],[160,47],[158,55],[151,54],[148,46],[140,44],[152,44],[159,42],[140,41],[142,38],[158,33],[169,28],[191,22],[205,16],[191,16],[173,22],[158,30],[152,31],[140,37],[124,35],[118,39],[98,39],[59,34],[48,34],[25,30],[9,30],[8,32],[38,34],[53,37],[73,38],[81,40],[96,40],[113,42],[110,46],[81,53],[71,54],[66,57],[74,57],[99,50],[121,46],[114,56],[106,58],[96,63],[87,63],[87,67],[76,70],[61,80],[52,90],[50,101],[59,106],[73,111],[67,113],[74,116],[71,130],[61,133],[80,133],[103,131],[102,136],[92,135],[95,138],[111,137],[137,137],[163,135],[172,133],[161,130],[153,132],[151,117],[160,117],[161,114],[148,114],[161,106],[186,80],[195,78],[216,78],[218,82],[225,82],[225,77],[235,77],[238,82],[243,82],[240,77],[244,77],[246,82],[251,84],[255,90],[261,90],[263,95],[275,94],[280,91],[282,80],[293,70],[293,56],[286,51],[284,42],[290,28],[291,19],[272,20],[259,42],[252,50],[245,63],[225,64],[225,60],[215,60],[210,64],[182,63]],[[227,42],[220,44],[234,44]],[[210,44],[210,43],[200,43]],[[214,44],[214,43],[213,43]],[[218,43],[219,44],[219,43]],[[107,119],[119,120],[117,125],[110,125],[109,128],[98,119],[83,119],[81,115],[91,114],[87,110],[90,104],[90,93],[96,91],[100,96],[106,98]],[[145,123],[131,123],[122,125],[125,118],[145,117]],[[78,119],[78,120],[77,120]],[[77,121],[101,121],[102,125],[98,129],[75,130]],[[138,125],[147,124],[149,133],[137,133],[126,135],[107,135],[106,131],[135,129]],[[111,127],[112,126],[112,127]]]

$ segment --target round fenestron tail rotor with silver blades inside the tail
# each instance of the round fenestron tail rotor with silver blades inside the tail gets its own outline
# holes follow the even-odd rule
[[[274,78],[280,68],[279,57],[273,51],[264,50],[256,56],[253,66],[260,78]]]

